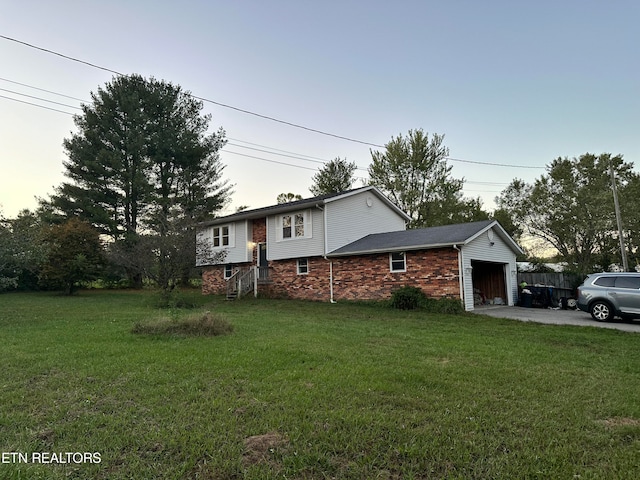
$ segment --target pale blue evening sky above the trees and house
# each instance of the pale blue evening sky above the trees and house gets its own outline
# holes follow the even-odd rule
[[[558,157],[640,162],[637,0],[0,6],[8,218],[65,181],[73,115],[113,80],[109,70],[211,100],[202,112],[211,133],[226,132],[221,160],[234,185],[225,213],[272,205],[280,193],[311,196],[314,173],[336,157],[357,164],[361,186],[371,151],[419,128],[445,136],[452,176],[487,210],[514,178],[533,182]]]

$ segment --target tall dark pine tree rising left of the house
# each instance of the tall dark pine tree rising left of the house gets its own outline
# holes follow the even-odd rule
[[[54,211],[90,222],[133,254],[141,232],[190,235],[186,225],[223,207],[231,194],[219,158],[225,134],[207,133],[202,102],[139,75],[116,77],[91,98],[64,141],[68,180],[49,200]],[[166,255],[159,259],[162,269]]]

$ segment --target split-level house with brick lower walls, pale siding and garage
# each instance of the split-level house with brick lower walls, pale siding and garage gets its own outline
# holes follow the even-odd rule
[[[320,301],[428,296],[513,305],[520,247],[496,221],[407,230],[410,217],[375,187],[244,210],[199,225],[205,294]],[[499,299],[499,300],[498,300]]]

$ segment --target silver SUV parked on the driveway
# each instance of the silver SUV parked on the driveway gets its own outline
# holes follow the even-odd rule
[[[640,273],[594,273],[578,287],[578,308],[594,320],[640,317]]]

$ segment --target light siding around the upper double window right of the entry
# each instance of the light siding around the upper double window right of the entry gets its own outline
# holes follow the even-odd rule
[[[307,212],[311,218],[311,233],[305,238],[280,239],[278,229],[282,228],[279,222],[281,215],[267,217],[267,260],[324,255],[323,211],[319,208],[311,208],[300,210],[299,212],[290,212],[290,214],[295,215],[302,212]]]

